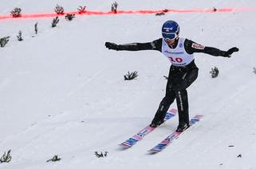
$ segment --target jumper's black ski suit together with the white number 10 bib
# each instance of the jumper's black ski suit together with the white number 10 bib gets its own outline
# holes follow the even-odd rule
[[[167,79],[166,93],[152,121],[160,121],[165,117],[171,103],[176,99],[179,124],[189,125],[187,87],[197,79],[199,68],[195,65],[194,52],[203,52],[212,56],[222,56],[218,48],[205,47],[192,40],[179,37],[175,47],[170,47],[163,38],[147,43],[120,44],[119,50],[140,51],[157,50],[163,53],[171,62]]]

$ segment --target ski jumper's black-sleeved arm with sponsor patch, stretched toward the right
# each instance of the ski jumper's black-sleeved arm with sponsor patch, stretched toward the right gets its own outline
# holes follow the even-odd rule
[[[223,57],[230,57],[233,52],[238,52],[238,48],[233,47],[230,48],[227,51],[221,51],[219,48],[212,48],[212,47],[207,47],[203,46],[202,44],[197,44],[192,40],[185,40],[185,49],[186,52],[189,54],[192,54],[194,52],[203,52],[207,53],[212,56],[223,56]]]

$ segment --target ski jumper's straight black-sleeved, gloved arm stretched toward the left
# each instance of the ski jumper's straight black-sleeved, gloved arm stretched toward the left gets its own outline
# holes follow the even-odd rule
[[[115,44],[105,43],[106,48],[116,51],[141,51],[141,50],[161,50],[162,40],[154,40],[147,43]]]

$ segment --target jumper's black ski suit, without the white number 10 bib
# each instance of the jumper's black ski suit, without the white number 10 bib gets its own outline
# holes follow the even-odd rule
[[[119,45],[106,42],[105,46],[108,49],[114,49],[117,51],[157,50],[162,52],[162,40],[163,38],[147,43],[132,43]],[[175,46],[172,48],[176,48],[177,44],[178,40],[176,40]],[[187,39],[184,40],[183,45],[185,51],[188,54],[193,54],[194,52],[203,52],[212,56],[230,57],[233,52],[238,51],[238,48],[231,48],[230,50],[225,52],[219,50],[218,48],[205,47],[201,44],[197,44],[194,41]],[[163,100],[160,102],[160,106],[156,111],[156,115],[152,123],[156,123],[157,121],[163,121],[167,110],[176,98],[179,112],[179,124],[185,122],[187,125],[189,125],[188,100],[186,89],[188,86],[191,86],[191,83],[193,83],[195,79],[197,79],[198,71],[199,68],[196,67],[195,60],[192,60],[191,63],[187,64],[184,67],[176,67],[174,65],[171,65],[167,80],[166,94]]]

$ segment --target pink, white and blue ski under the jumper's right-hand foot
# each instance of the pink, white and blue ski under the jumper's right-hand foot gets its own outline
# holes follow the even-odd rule
[[[203,117],[203,115],[195,115],[195,117],[193,117],[191,119],[191,121],[189,121],[190,124],[190,128],[192,125],[195,125],[195,123],[199,122],[200,119]],[[188,129],[190,129],[188,128]],[[185,130],[186,131],[186,130]],[[169,144],[171,144],[172,140],[175,140],[179,137],[179,135],[183,132],[173,132],[171,133],[169,136],[167,136],[164,140],[162,140],[160,142],[160,144],[157,144],[154,148],[150,149],[148,152],[152,152],[152,153],[157,153],[157,152],[161,152],[164,148],[166,148]]]

